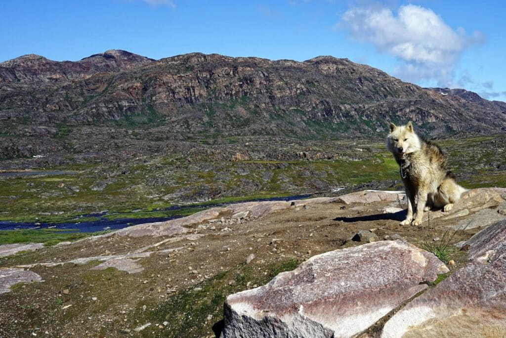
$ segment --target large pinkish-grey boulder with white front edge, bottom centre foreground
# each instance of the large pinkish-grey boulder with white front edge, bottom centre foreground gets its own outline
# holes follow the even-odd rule
[[[229,295],[223,337],[348,337],[374,324],[446,266],[407,242],[326,252],[267,285]]]

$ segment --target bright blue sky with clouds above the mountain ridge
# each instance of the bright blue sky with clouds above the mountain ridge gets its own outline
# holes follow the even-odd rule
[[[348,58],[424,87],[506,101],[502,1],[2,0],[0,61],[108,49]]]

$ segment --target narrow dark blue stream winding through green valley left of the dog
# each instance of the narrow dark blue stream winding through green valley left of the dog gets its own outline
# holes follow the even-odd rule
[[[55,174],[57,175],[57,174]],[[228,202],[228,203],[214,203],[214,204],[198,204],[198,205],[173,205],[167,208],[159,208],[153,210],[153,212],[159,212],[163,210],[178,210],[182,208],[188,207],[197,207],[202,209],[207,209],[210,207],[216,206],[226,206],[235,203],[244,203],[244,202],[258,202],[258,201],[291,201],[296,199],[304,199],[311,197],[312,194],[304,194],[304,195],[294,195],[294,196],[286,196],[286,197],[272,197],[272,198],[261,198],[261,199],[249,199],[242,200],[237,202]],[[142,211],[146,213],[144,210],[140,209],[138,211]],[[149,213],[149,212],[147,212]],[[152,223],[152,222],[163,222],[176,218],[183,217],[182,215],[173,215],[171,217],[147,217],[147,218],[117,218],[114,220],[106,219],[105,216],[110,215],[107,213],[104,214],[89,214],[80,216],[76,219],[75,222],[71,223],[19,223],[19,222],[9,222],[9,221],[0,221],[0,230],[17,230],[17,229],[75,229],[75,231],[80,232],[96,232],[102,230],[117,230],[125,227],[129,227],[132,225],[143,224],[143,223]],[[114,213],[114,215],[118,215]],[[99,220],[87,221],[87,218],[100,218]]]

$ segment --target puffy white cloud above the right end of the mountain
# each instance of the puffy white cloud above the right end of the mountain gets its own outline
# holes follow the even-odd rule
[[[440,85],[451,83],[462,51],[484,40],[481,32],[454,30],[432,10],[415,5],[401,6],[397,13],[385,7],[351,8],[339,26],[352,38],[397,57],[396,72],[403,79],[437,79]]]

